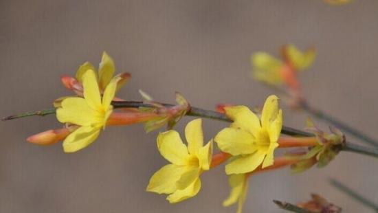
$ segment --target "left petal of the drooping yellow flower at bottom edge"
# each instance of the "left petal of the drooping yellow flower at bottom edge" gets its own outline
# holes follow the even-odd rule
[[[231,187],[230,195],[223,201],[223,206],[229,206],[238,201],[243,192],[243,185],[245,182],[245,174],[230,175],[228,177],[228,183]]]

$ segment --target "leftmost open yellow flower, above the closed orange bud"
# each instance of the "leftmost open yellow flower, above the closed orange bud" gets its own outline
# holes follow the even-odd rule
[[[56,110],[58,121],[80,126],[63,142],[66,153],[85,148],[98,137],[113,110],[111,100],[114,98],[118,79],[113,78],[109,82],[101,98],[96,73],[88,69],[82,74],[84,98],[70,97],[61,102]]]

